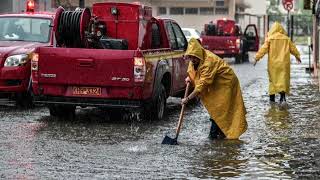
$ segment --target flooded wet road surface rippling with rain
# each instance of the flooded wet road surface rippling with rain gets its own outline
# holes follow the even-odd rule
[[[110,118],[99,109],[57,120],[42,107],[2,106],[0,179],[318,179],[320,96],[303,65],[292,65],[287,107],[268,102],[266,61],[233,67],[248,111],[240,140],[210,141],[209,116],[193,104],[180,145],[161,145],[178,120],[174,98],[160,122]]]

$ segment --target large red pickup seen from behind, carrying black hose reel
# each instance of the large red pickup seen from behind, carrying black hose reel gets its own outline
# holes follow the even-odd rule
[[[185,89],[181,28],[141,4],[95,3],[92,11],[57,10],[56,47],[37,48],[32,57],[35,102],[47,104],[52,116],[95,106],[161,119],[166,99]]]

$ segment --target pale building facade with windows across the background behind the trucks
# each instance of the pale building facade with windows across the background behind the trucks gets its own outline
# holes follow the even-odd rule
[[[6,12],[23,12],[26,0],[1,0]],[[203,30],[205,23],[227,18],[236,19],[250,5],[245,0],[35,0],[37,10],[53,11],[59,5],[74,9],[81,5],[92,7],[97,2],[141,2],[152,7],[153,15],[176,20],[181,27]]]

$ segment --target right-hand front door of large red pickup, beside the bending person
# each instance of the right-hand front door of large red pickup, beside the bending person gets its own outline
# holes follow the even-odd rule
[[[174,51],[172,55],[173,91],[178,92],[184,90],[184,79],[187,77],[187,68],[189,61],[184,59],[184,53],[188,46],[188,41],[183,35],[183,32],[177,23],[168,21],[166,23],[166,29],[168,32],[171,49]]]

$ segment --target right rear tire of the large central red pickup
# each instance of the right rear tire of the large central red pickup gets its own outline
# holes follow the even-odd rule
[[[166,90],[163,84],[161,84],[158,89],[156,97],[151,102],[151,106],[150,104],[145,105],[144,112],[142,112],[144,113],[143,118],[145,120],[149,119],[151,121],[161,120],[165,115],[166,103],[167,103]]]

